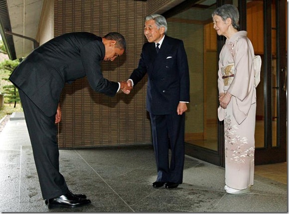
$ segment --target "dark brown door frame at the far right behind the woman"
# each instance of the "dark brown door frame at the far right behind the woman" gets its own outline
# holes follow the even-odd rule
[[[272,146],[272,1],[263,1],[264,9],[264,147],[256,148],[255,164],[270,164],[287,161],[287,96],[283,90],[287,66],[286,46],[286,1],[276,0],[276,48],[277,48],[277,146]],[[284,6],[286,5],[286,6]],[[286,117],[284,116],[286,115]]]

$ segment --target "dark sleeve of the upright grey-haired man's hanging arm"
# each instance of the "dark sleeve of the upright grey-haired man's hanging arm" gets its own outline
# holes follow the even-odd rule
[[[180,41],[177,52],[177,66],[178,76],[180,81],[180,100],[183,102],[190,102],[190,78],[189,78],[189,66],[184,44]]]

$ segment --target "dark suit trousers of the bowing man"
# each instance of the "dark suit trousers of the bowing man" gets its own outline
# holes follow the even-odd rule
[[[59,150],[56,141],[55,115],[46,116],[20,89],[26,125],[32,145],[34,161],[43,199],[51,199],[68,192],[59,172]]]

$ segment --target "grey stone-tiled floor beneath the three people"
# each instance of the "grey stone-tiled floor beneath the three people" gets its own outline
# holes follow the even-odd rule
[[[251,193],[230,195],[224,168],[189,156],[183,184],[154,189],[151,146],[60,150],[60,169],[70,190],[92,201],[89,206],[47,209],[25,120],[9,120],[0,132],[0,212],[288,212],[287,184],[255,174]]]

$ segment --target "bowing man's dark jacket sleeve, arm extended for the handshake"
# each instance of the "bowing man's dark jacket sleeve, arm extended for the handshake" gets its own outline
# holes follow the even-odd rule
[[[100,41],[89,42],[80,51],[81,60],[91,88],[95,92],[113,97],[118,91],[119,84],[103,77],[101,61],[105,49],[102,49],[102,46],[103,43]]]

